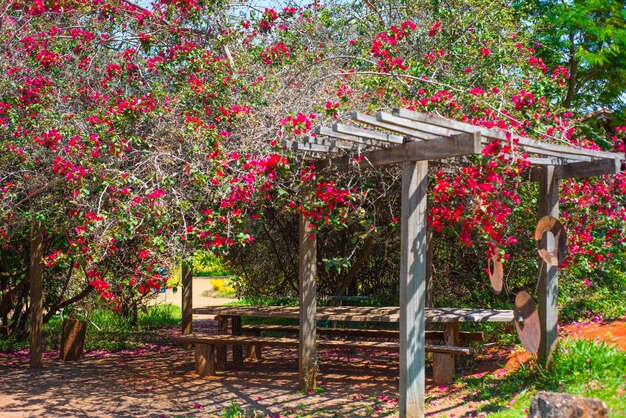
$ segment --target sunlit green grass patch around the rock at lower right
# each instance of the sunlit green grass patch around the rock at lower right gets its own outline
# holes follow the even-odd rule
[[[532,397],[540,390],[566,392],[603,400],[610,417],[626,414],[626,352],[588,340],[563,340],[553,364],[522,367],[504,377],[463,378],[472,393],[466,401],[488,403],[479,412],[490,417],[526,416]]]

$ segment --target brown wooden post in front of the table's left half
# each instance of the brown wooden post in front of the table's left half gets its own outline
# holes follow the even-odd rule
[[[315,388],[317,351],[315,314],[317,311],[317,240],[309,221],[300,215],[298,281],[300,292],[300,344],[298,382],[301,391]]]

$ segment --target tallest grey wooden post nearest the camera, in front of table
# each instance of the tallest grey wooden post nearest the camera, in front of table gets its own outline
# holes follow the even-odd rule
[[[400,417],[424,416],[428,162],[402,165]]]

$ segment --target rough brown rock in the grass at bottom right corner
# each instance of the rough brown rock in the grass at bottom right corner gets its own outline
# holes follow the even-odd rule
[[[606,418],[606,405],[598,399],[539,392],[530,404],[528,418]]]

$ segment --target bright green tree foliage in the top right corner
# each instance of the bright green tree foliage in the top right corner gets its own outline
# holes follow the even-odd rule
[[[626,9],[619,0],[521,0],[545,63],[568,68],[566,107],[624,108]]]

